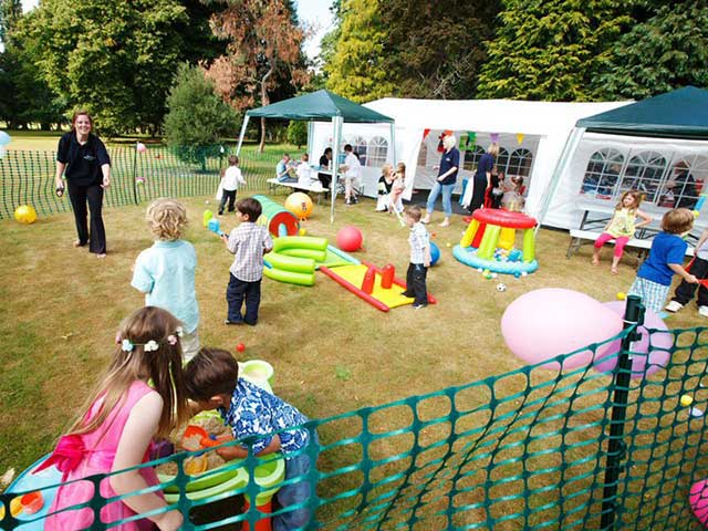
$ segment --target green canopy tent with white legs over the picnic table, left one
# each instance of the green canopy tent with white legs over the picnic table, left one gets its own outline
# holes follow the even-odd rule
[[[394,119],[384,116],[376,111],[366,108],[345,97],[337,96],[330,91],[317,91],[303,96],[291,97],[282,102],[273,103],[260,108],[252,108],[246,112],[241,134],[239,135],[239,144],[237,154],[241,150],[241,143],[246,134],[246,127],[250,118],[287,118],[287,119],[304,119],[309,122],[309,142],[312,138],[312,122],[314,121],[332,121],[332,185],[330,186],[330,195],[332,206],[330,212],[330,222],[334,222],[334,200],[336,198],[336,183],[339,179],[340,168],[340,144],[342,143],[342,124],[344,122],[371,124],[384,122],[391,124],[391,145],[388,158],[396,159],[396,138]]]

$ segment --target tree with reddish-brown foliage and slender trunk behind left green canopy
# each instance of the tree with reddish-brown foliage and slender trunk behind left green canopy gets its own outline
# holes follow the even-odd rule
[[[270,103],[278,77],[293,87],[308,82],[301,44],[304,32],[296,25],[290,2],[284,0],[215,0],[226,4],[211,20],[215,35],[228,41],[227,53],[209,66],[217,91],[237,108]],[[260,96],[260,97],[259,97]],[[259,149],[266,145],[266,119],[261,118]]]

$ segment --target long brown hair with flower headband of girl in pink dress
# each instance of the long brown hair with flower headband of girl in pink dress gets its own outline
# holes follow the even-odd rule
[[[140,308],[123,321],[116,335],[118,345],[113,360],[81,409],[70,434],[88,434],[97,429],[118,406],[133,382],[147,378],[152,379],[153,388],[164,402],[157,435],[167,437],[176,426],[184,424],[189,418],[189,408],[179,334],[179,321],[168,311],[156,306]],[[146,348],[148,343],[150,345]],[[87,419],[87,412],[101,396],[101,409]]]

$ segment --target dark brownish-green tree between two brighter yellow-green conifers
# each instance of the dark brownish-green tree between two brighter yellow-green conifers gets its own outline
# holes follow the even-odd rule
[[[493,35],[499,0],[388,0],[384,70],[403,97],[468,98]]]

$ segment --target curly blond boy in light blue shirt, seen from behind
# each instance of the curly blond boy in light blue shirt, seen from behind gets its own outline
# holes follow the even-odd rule
[[[170,312],[183,323],[185,361],[199,352],[199,305],[195,291],[197,253],[183,233],[187,210],[173,199],[156,199],[147,207],[147,225],[157,240],[137,257],[131,285],[145,293],[145,305]]]

